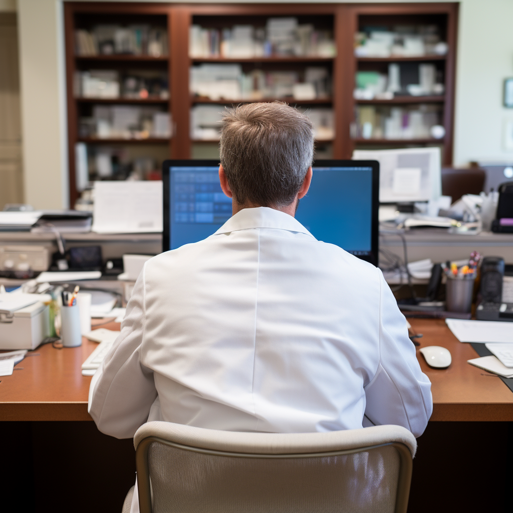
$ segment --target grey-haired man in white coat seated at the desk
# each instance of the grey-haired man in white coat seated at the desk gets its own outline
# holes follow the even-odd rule
[[[91,382],[98,429],[422,434],[431,384],[381,271],[294,219],[312,155],[308,117],[285,104],[224,116],[219,177],[233,216],[145,264]]]

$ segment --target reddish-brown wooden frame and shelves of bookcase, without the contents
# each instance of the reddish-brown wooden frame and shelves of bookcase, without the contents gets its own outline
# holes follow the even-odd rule
[[[300,23],[320,23],[333,32],[336,56],[269,56],[253,58],[189,57],[189,28],[192,24],[205,27],[223,28],[233,24],[253,24],[262,26],[268,17],[294,16]],[[131,22],[136,18],[136,22]],[[75,187],[75,144],[83,142],[88,147],[97,145],[118,145],[137,151],[145,145],[154,148],[167,147],[167,156],[174,159],[189,159],[193,145],[211,144],[219,141],[193,140],[190,135],[190,111],[194,105],[237,105],[253,102],[284,101],[298,106],[327,106],[334,112],[334,137],[330,141],[318,141],[316,145],[328,148],[333,159],[348,159],[357,147],[375,146],[425,146],[441,145],[443,164],[452,163],[453,109],[456,68],[457,42],[457,3],[396,3],[396,4],[173,4],[173,3],[137,3],[137,2],[64,2],[67,105],[68,105],[68,154],[70,205],[78,197]],[[75,55],[75,29],[94,24],[112,23],[129,25],[130,23],[163,24],[167,28],[167,55]],[[317,20],[317,21],[316,21]],[[357,57],[354,54],[354,34],[362,23],[372,22],[374,26],[387,26],[409,22],[410,24],[439,24],[442,26],[444,41],[448,45],[445,55],[422,55],[408,57]],[[203,24],[203,25],[202,25]],[[357,70],[385,70],[390,63],[433,63],[443,70],[445,92],[435,96],[396,96],[392,100],[356,100],[353,97],[354,77]],[[192,96],[189,89],[189,70],[192,65],[202,63],[241,64],[244,70],[301,70],[305,66],[324,66],[331,73],[332,94],[328,98],[315,100],[294,100],[285,98],[262,98],[261,100],[211,100]],[[283,66],[283,68],[280,68]],[[160,70],[167,73],[169,98],[76,98],[73,92],[73,77],[76,70],[120,70],[132,69]],[[245,71],[246,72],[246,71]],[[441,140],[386,140],[351,139],[350,127],[355,121],[355,109],[358,106],[374,105],[408,106],[429,104],[430,108],[439,108],[442,112],[442,124],[445,137]],[[90,112],[94,105],[139,105],[165,108],[172,114],[174,125],[170,139],[97,139],[80,137],[78,124],[82,113]],[[151,148],[148,149],[150,151]],[[144,150],[145,151],[145,150]]]

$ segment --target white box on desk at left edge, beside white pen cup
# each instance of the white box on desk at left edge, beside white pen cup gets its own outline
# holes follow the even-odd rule
[[[0,349],[35,349],[50,336],[50,308],[38,302],[0,314]]]

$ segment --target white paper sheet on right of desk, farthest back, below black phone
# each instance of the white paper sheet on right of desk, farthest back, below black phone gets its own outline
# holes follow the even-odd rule
[[[513,342],[513,323],[446,319],[447,326],[460,342]]]

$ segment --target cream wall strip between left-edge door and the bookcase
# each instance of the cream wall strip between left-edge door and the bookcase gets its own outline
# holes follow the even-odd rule
[[[62,3],[18,0],[25,202],[68,206]]]

